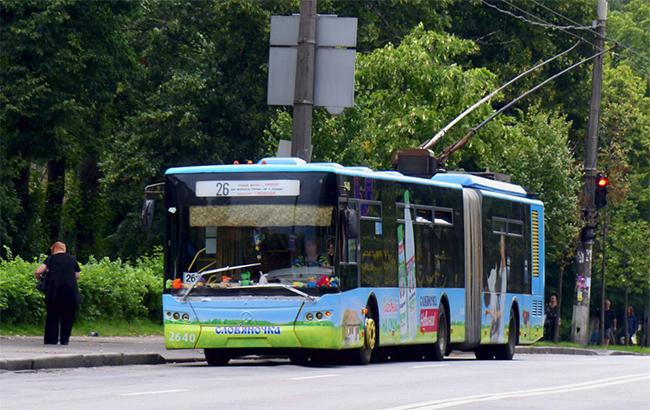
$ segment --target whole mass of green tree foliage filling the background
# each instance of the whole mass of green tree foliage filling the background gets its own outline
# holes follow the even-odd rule
[[[278,139],[290,139],[291,115],[266,105],[269,19],[296,12],[298,3],[3,1],[1,244],[26,260],[54,239],[82,261],[91,254],[135,260],[162,240],[161,218],[153,234],[138,226],[145,184],[170,166],[272,154]],[[355,107],[334,117],[315,112],[315,159],[390,167],[392,150],[419,145],[498,85],[576,41],[567,30],[530,21],[574,24],[566,16],[589,25],[595,18],[590,0],[490,3],[502,11],[478,0],[319,1],[321,13],[359,18],[359,52]],[[645,0],[612,4],[608,37],[624,47],[607,60],[600,127],[599,167],[612,180],[610,279],[633,272],[629,280],[643,284],[647,260],[636,246],[650,223],[650,7]],[[574,34],[585,40],[576,51],[482,106],[434,150],[593,54],[594,34]],[[577,233],[590,82],[588,65],[557,79],[497,117],[449,162],[507,172],[539,193],[551,280]]]

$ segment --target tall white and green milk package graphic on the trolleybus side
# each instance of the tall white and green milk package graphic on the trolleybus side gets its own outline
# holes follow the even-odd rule
[[[417,299],[415,294],[415,241],[409,193],[404,192],[404,225],[397,227],[400,339],[413,340],[417,334]]]

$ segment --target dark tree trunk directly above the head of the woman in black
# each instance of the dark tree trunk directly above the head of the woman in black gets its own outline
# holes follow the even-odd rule
[[[47,161],[47,193],[45,198],[45,231],[50,243],[59,240],[61,207],[65,195],[65,159]]]

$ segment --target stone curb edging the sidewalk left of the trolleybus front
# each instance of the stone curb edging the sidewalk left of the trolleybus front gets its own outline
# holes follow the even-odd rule
[[[71,367],[129,366],[136,364],[188,363],[203,361],[198,358],[165,359],[158,353],[102,353],[102,354],[60,354],[32,359],[2,359],[0,370],[40,370]]]

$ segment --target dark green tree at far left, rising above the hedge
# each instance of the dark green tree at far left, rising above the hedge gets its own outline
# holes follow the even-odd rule
[[[123,41],[124,16],[137,3],[49,3],[7,1],[2,8],[2,131],[6,155],[13,164],[10,182],[25,207],[11,233],[16,253],[34,254],[25,236],[38,223],[30,181],[44,172],[45,204],[42,229],[48,242],[80,231],[92,247],[96,230],[94,203],[99,180],[100,136],[110,133],[110,105],[117,83],[128,69]],[[79,222],[70,232],[61,228],[66,174],[74,171],[82,195]],[[90,232],[90,233],[89,233]],[[42,251],[42,248],[40,249]]]

